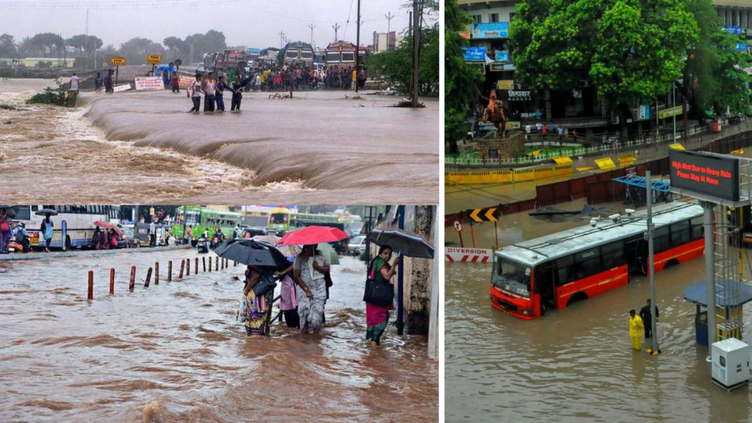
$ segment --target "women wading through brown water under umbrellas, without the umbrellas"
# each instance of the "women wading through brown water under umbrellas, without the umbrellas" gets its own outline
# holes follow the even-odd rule
[[[398,260],[394,258],[390,263],[391,256],[390,246],[381,246],[378,255],[368,264],[368,278],[391,287],[390,279],[396,272]],[[274,296],[274,283],[268,283],[269,279],[281,282],[280,311],[284,313],[288,328],[299,328],[303,333],[316,334],[326,322],[324,312],[329,299],[329,288],[332,286],[329,260],[316,245],[306,245],[292,261],[290,267],[275,273],[269,267],[247,267],[238,320],[244,323],[248,335],[268,333]],[[393,308],[393,304],[372,304],[366,301],[365,338],[372,346],[381,343]]]

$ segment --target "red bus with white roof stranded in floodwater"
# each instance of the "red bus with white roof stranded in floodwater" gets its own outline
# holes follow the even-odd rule
[[[531,320],[647,274],[647,212],[602,219],[499,249],[491,273],[491,305]],[[676,201],[653,207],[655,271],[702,255],[702,207]]]

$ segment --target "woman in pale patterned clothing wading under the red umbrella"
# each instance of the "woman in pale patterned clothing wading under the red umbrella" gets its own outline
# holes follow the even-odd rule
[[[323,255],[316,255],[316,245],[303,246],[293,262],[293,274],[298,289],[300,330],[315,334],[321,330],[326,304],[326,279],[329,264]]]

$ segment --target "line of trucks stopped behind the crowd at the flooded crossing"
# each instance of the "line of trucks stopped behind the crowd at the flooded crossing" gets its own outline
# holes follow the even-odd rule
[[[325,68],[335,66],[339,68],[354,66],[356,50],[361,59],[365,59],[365,47],[356,49],[355,44],[347,41],[336,41],[323,50],[314,50],[311,44],[294,41],[281,49],[274,47],[263,50],[249,48],[206,53],[202,65],[205,70],[222,69],[226,72],[237,68],[250,71],[250,68],[262,66],[304,66],[322,71]]]

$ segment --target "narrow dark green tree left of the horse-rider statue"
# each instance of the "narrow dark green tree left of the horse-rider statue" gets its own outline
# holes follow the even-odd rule
[[[475,86],[481,83],[478,68],[465,63],[464,50],[468,41],[460,32],[472,23],[459,9],[456,0],[444,2],[444,137],[449,153],[457,153],[457,141],[468,132],[467,117],[475,100]]]

